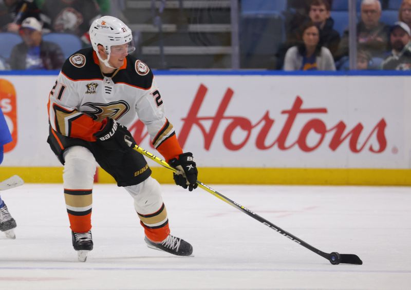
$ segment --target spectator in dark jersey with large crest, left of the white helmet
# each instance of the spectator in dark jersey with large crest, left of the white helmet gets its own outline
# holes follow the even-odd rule
[[[88,29],[101,16],[95,0],[45,0],[42,9],[51,17],[53,32],[76,34],[85,46],[90,45]]]

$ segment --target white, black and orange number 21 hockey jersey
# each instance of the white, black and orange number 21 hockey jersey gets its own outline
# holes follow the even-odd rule
[[[128,127],[137,116],[167,161],[182,153],[152,71],[130,55],[110,76],[102,74],[92,48],[71,55],[50,91],[48,112],[53,130],[90,142],[105,118]]]

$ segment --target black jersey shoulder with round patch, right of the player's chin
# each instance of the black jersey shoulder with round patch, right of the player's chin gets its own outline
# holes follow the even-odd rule
[[[113,78],[115,83],[126,83],[142,89],[150,89],[153,85],[153,72],[142,61],[132,55],[127,55],[127,66],[121,69]]]

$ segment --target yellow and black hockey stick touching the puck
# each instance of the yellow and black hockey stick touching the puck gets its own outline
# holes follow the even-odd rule
[[[164,166],[165,168],[168,168],[168,169],[170,169],[174,172],[177,171],[174,167],[170,166],[167,162],[165,162],[164,160],[158,158],[157,156],[153,155],[152,153],[146,151],[145,149],[141,148],[140,146],[135,145],[133,149],[136,150],[137,152],[143,154],[144,156],[150,158],[151,160],[154,160],[155,162],[157,162],[158,164]],[[255,214],[250,209],[248,209],[248,208],[242,206],[241,204],[239,204],[235,201],[232,201],[231,199],[223,196],[217,190],[215,190],[215,189],[211,188],[210,186],[202,183],[201,181],[197,180],[197,184],[198,184],[199,187],[206,190],[207,192],[209,192],[213,196],[215,196],[215,197],[219,198],[220,200],[228,203],[229,205],[241,210],[242,212],[249,215],[253,219],[256,219],[260,223],[263,223],[264,225],[266,225],[266,226],[272,228],[273,230],[277,231],[277,233],[289,238],[290,240],[296,242],[297,244],[300,244],[303,247],[306,247],[307,249],[311,250],[315,254],[320,255],[321,257],[327,259],[333,265],[338,265],[340,263],[362,265],[362,263],[363,263],[363,261],[361,261],[361,259],[357,255],[354,255],[354,254],[339,254],[337,252],[332,252],[332,253],[328,254],[328,253],[322,252],[321,250],[319,250],[319,249],[311,246],[310,244],[304,242],[300,238],[297,238],[294,235],[288,233],[288,231],[285,231],[284,229],[272,224],[268,220],[258,216],[257,214]]]

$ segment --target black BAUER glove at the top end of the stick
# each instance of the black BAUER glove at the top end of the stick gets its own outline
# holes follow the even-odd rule
[[[109,150],[125,150],[136,145],[136,141],[127,127],[110,118],[103,120],[104,123],[104,127],[94,134],[101,146]]]

